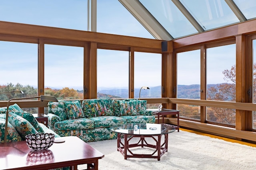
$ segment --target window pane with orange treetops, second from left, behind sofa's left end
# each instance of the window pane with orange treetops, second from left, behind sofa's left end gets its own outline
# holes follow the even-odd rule
[[[57,99],[83,99],[84,48],[44,47],[44,93]]]

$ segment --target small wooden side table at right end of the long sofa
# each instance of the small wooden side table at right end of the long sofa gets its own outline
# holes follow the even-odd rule
[[[180,131],[180,110],[175,110],[175,109],[162,109],[159,111],[158,109],[147,109],[153,112],[153,114],[157,115],[157,120],[159,123],[159,117],[162,116],[163,123],[164,123],[164,115],[177,115],[177,126],[174,126],[175,129]]]

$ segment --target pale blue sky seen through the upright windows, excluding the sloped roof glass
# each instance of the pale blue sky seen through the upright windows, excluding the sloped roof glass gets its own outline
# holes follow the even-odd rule
[[[98,32],[154,38],[118,0],[98,0],[97,2]],[[87,0],[72,0],[72,3],[70,0],[2,1],[0,20],[86,31]],[[46,86],[56,88],[82,86],[83,49],[81,47],[46,45],[45,50]],[[180,77],[178,84],[199,84],[200,70],[198,72],[198,69],[200,67],[198,66],[200,65],[191,65],[191,63],[198,61],[200,57],[198,58],[197,52],[187,54],[189,55],[182,53],[179,55],[181,59],[178,61],[178,77]],[[212,57],[208,59],[210,63],[208,84],[225,82],[222,71],[230,69],[235,64],[234,48],[230,46],[216,48],[209,54]],[[128,87],[128,56],[127,51],[98,50],[98,87]],[[159,54],[149,53],[135,54],[135,87],[160,85],[161,57],[159,56]],[[37,85],[36,44],[0,41],[0,58],[2,61],[0,63],[1,85],[10,82]],[[63,58],[65,60],[62,60]],[[144,74],[145,70],[146,74]],[[195,72],[198,72],[197,76]]]

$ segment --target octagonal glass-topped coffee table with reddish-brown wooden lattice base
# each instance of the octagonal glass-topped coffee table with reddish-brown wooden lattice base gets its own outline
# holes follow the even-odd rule
[[[157,158],[168,151],[168,134],[176,129],[168,124],[154,123],[128,123],[110,127],[111,131],[117,134],[117,150],[127,158]],[[164,135],[164,141],[161,143],[161,137]],[[122,137],[124,138],[122,140]],[[129,138],[128,138],[129,137]],[[137,143],[130,144],[132,139],[139,138]],[[152,138],[156,144],[150,144],[146,141]],[[149,147],[155,149],[152,154],[136,154],[130,150],[133,147]]]

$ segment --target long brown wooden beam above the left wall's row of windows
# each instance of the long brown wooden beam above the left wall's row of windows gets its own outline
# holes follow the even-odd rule
[[[0,21],[0,34],[161,50],[161,40]]]

